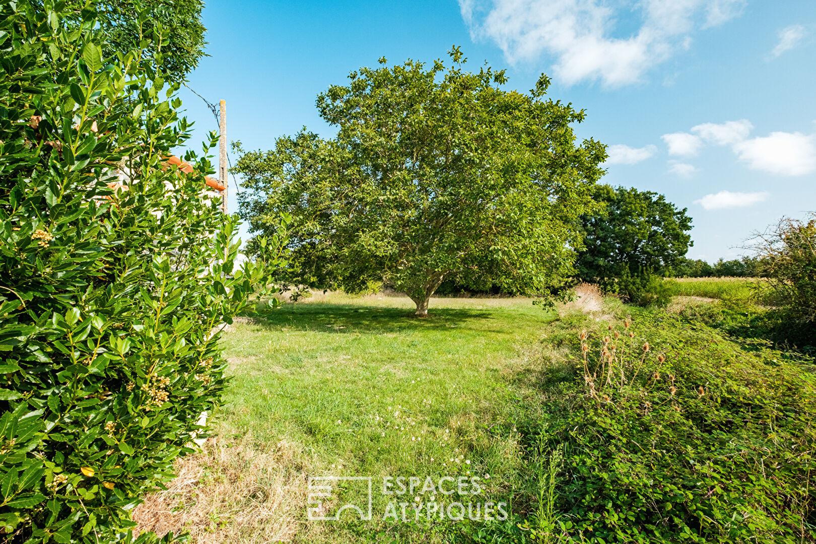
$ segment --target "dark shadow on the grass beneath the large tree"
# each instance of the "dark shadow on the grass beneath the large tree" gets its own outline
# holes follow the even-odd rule
[[[312,330],[330,334],[384,334],[405,333],[432,329],[491,330],[484,325],[468,327],[472,321],[494,320],[485,310],[468,308],[433,308],[427,317],[415,317],[409,308],[356,306],[332,303],[285,304],[281,308],[250,315],[258,325],[267,328],[286,327],[294,330]]]

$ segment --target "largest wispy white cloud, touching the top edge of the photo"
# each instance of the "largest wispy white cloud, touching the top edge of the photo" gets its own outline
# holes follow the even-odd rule
[[[555,58],[556,77],[571,85],[600,80],[623,86],[679,48],[690,33],[738,15],[743,0],[459,0],[473,39],[487,38],[507,59]],[[615,23],[635,17],[636,29],[615,36]]]

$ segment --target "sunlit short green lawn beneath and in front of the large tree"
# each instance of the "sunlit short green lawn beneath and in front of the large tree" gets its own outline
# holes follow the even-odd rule
[[[478,475],[482,500],[529,488],[517,430],[529,413],[512,382],[540,364],[527,353],[556,313],[530,299],[445,298],[432,300],[427,319],[412,313],[406,298],[318,296],[224,335],[234,378],[215,414],[218,436],[283,441],[309,475],[375,479],[374,520],[307,522],[299,504],[295,540],[455,538],[461,524],[383,521],[387,501],[376,488],[386,475]],[[434,494],[441,501],[425,493],[423,502]]]

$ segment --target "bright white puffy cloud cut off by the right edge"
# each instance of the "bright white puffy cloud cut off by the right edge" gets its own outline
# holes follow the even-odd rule
[[[771,132],[765,137],[738,142],[733,149],[749,168],[769,174],[805,175],[816,171],[814,135]]]

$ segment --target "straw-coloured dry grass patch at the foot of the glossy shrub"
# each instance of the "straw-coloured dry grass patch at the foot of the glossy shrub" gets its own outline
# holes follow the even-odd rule
[[[286,441],[257,449],[210,438],[180,458],[166,491],[136,507],[138,531],[189,532],[197,544],[291,542],[305,511],[308,463]]]

